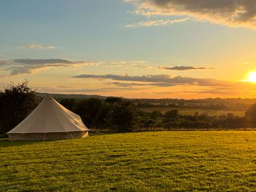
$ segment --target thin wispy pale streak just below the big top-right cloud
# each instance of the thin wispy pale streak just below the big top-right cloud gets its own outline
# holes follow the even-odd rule
[[[173,23],[181,23],[187,21],[189,18],[178,18],[178,19],[155,19],[151,21],[141,21],[136,24],[128,24],[126,28],[137,28],[137,27],[150,27],[150,26],[167,26]]]

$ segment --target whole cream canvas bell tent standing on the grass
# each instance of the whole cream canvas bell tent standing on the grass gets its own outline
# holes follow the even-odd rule
[[[52,140],[87,137],[88,129],[78,114],[47,95],[31,114],[7,132],[9,140]]]

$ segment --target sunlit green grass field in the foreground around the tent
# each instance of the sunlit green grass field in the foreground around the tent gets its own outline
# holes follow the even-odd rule
[[[253,191],[256,132],[0,140],[0,191]]]

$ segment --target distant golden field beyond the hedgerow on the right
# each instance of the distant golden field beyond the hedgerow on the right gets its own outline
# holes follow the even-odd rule
[[[169,110],[178,110],[180,114],[195,114],[195,112],[198,112],[199,114],[208,114],[210,116],[214,115],[222,115],[222,114],[227,114],[229,112],[238,115],[238,116],[244,116],[245,115],[245,110],[204,110],[201,108],[184,108],[184,107],[143,107],[139,108],[139,110],[142,110],[144,112],[153,112],[154,110],[160,111],[161,113],[166,113]]]

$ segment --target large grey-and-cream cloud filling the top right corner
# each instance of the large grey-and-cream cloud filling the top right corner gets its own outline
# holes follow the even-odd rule
[[[190,16],[232,27],[256,27],[255,0],[125,0],[144,16]]]

